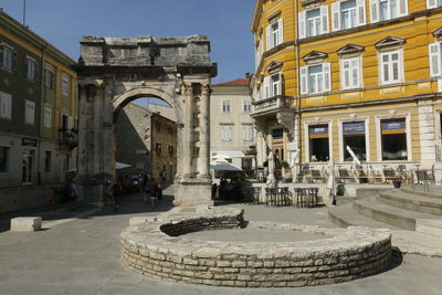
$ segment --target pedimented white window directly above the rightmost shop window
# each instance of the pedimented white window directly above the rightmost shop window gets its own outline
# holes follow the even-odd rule
[[[402,51],[381,52],[380,59],[380,83],[382,85],[400,83],[403,77]]]

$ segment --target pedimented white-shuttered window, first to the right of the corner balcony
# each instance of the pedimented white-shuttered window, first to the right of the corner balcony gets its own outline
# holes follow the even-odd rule
[[[301,67],[301,93],[316,94],[332,89],[330,64],[323,63]]]

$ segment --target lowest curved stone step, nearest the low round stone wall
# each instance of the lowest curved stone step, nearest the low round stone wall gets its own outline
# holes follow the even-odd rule
[[[330,207],[328,209],[328,218],[337,225],[347,226],[367,226],[372,229],[390,229],[399,230],[394,225],[383,223],[365,215],[359,214],[352,208],[352,203],[345,203],[337,207]]]

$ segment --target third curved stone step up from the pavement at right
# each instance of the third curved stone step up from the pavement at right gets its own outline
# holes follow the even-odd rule
[[[401,190],[379,192],[377,199],[393,207],[442,217],[442,199],[423,197]]]

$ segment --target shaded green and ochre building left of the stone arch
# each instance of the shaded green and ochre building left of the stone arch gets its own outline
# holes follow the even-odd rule
[[[0,212],[41,203],[76,166],[74,64],[0,11]]]

